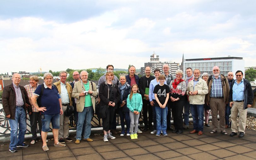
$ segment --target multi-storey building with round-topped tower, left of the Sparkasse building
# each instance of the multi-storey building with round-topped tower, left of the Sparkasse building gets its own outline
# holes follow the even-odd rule
[[[145,75],[145,67],[146,66],[150,66],[151,67],[151,72],[154,73],[154,70],[156,68],[159,68],[161,73],[163,73],[163,66],[167,64],[169,66],[169,72],[171,74],[175,74],[175,72],[180,69],[179,68],[179,63],[172,63],[171,61],[169,62],[160,62],[159,61],[159,55],[156,55],[155,53],[153,53],[150,56],[150,62],[148,63],[144,63],[144,67],[141,67],[141,74]]]

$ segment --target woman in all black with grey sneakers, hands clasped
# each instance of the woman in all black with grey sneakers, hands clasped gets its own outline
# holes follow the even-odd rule
[[[117,106],[120,100],[120,93],[118,86],[112,83],[114,79],[113,71],[108,71],[106,73],[106,82],[101,83],[99,87],[99,98],[101,99],[101,106],[108,105],[108,111],[106,118],[102,118],[102,126],[104,138],[103,141],[107,142],[108,138],[115,139],[110,133],[111,124],[114,117],[114,108]]]

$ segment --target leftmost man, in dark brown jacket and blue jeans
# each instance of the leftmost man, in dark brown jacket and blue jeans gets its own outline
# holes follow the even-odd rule
[[[20,86],[20,74],[12,76],[12,84],[3,88],[3,110],[6,118],[9,118],[11,127],[9,151],[16,152],[16,147],[28,147],[24,144],[26,133],[26,110],[29,115],[32,112],[26,89]],[[18,135],[19,128],[19,136]]]

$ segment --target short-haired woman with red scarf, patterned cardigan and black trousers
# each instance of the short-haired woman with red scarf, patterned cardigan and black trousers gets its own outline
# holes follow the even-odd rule
[[[173,114],[173,123],[175,130],[172,133],[181,134],[183,133],[183,106],[185,100],[187,100],[185,96],[185,92],[187,89],[186,82],[181,79],[183,75],[183,71],[177,70],[176,71],[176,78],[171,81],[170,83],[170,91],[171,95],[170,99],[172,101],[172,114]]]

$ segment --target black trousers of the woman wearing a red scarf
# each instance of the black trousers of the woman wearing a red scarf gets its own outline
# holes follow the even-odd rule
[[[173,124],[175,129],[183,131],[183,107],[184,101],[177,100],[171,103]]]

